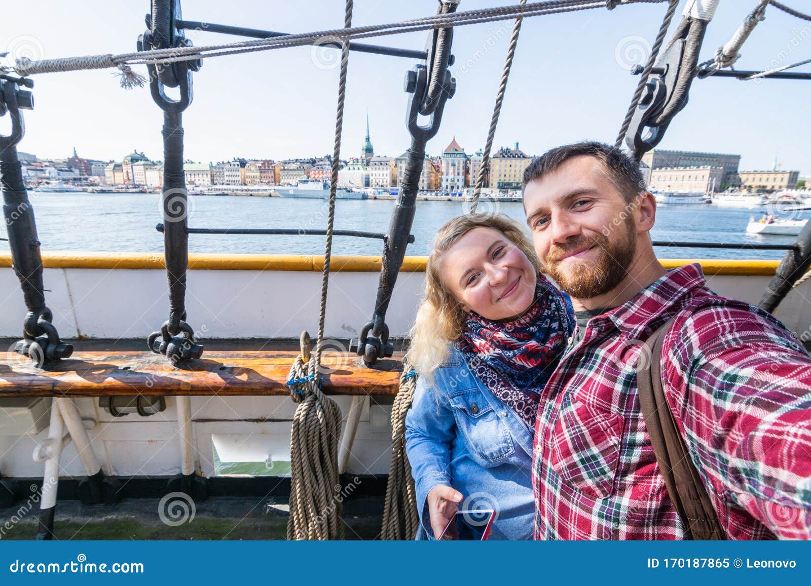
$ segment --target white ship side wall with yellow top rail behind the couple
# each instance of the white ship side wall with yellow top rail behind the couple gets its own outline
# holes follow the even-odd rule
[[[43,257],[48,306],[63,339],[145,340],[166,319],[168,298],[166,273],[160,264],[162,255],[97,253],[90,263],[85,253],[63,253],[58,259],[45,253]],[[379,257],[376,264],[369,260],[371,257],[353,257],[349,265],[346,258],[333,258],[333,265],[343,268],[330,278],[325,336],[332,340],[357,336],[358,328],[369,319],[374,307],[380,277]],[[358,258],[366,259],[365,263],[358,263]],[[666,262],[666,266],[687,262],[691,261]],[[188,321],[199,331],[203,344],[220,338],[298,339],[305,329],[314,334],[320,306],[321,263],[322,257],[317,256],[190,255],[193,268],[188,272],[187,285],[193,294],[186,298]],[[406,257],[405,264],[410,267],[397,279],[386,316],[393,338],[407,335],[423,294],[424,258]],[[736,264],[739,274],[730,269]],[[756,303],[776,265],[776,261],[710,261],[705,263],[704,272],[710,289]],[[26,308],[7,254],[0,255],[0,288],[9,293],[0,311],[0,336],[17,339]],[[807,298],[811,298],[811,280],[788,294],[777,317],[794,331],[805,330]],[[345,341],[331,343],[328,348],[340,344]],[[79,345],[80,341],[77,348]],[[357,360],[354,353],[346,353],[346,357]],[[105,369],[84,375],[101,381],[114,376],[114,371]],[[333,398],[346,420],[352,398]],[[0,399],[0,405],[3,401]],[[150,417],[134,413],[113,417],[100,407],[98,399],[79,397],[74,401],[81,414],[97,421],[88,434],[106,475],[180,473],[178,398],[167,397],[166,410]],[[369,396],[360,397],[359,405],[360,422],[347,472],[386,474],[392,442],[391,405],[377,404]],[[285,475],[295,408],[296,404],[286,396],[192,396],[195,469],[206,477],[223,474],[218,472],[214,458],[215,446],[219,446],[221,460],[269,461],[269,475]],[[3,413],[0,409],[0,416]],[[48,430],[30,435],[21,435],[19,429],[10,433],[12,430],[0,423],[0,473],[6,478],[41,478],[43,464],[32,460],[32,451],[45,442]],[[62,452],[60,474],[85,474],[73,443]]]

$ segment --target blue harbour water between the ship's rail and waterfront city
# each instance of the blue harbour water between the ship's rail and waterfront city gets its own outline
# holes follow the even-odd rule
[[[161,252],[163,234],[160,195],[31,192],[36,229],[42,250],[105,252]],[[195,195],[189,198],[189,226],[195,228],[311,228],[324,229],[327,202],[320,199],[282,199]],[[427,255],[436,230],[453,216],[463,214],[459,202],[417,203],[414,244],[408,255]],[[385,232],[393,200],[339,200],[336,229]],[[497,207],[524,221],[521,203],[482,202],[480,211]],[[654,240],[689,242],[771,242],[790,244],[792,236],[759,236],[745,232],[749,216],[758,212],[733,207],[663,206],[657,212]],[[797,212],[795,212],[797,213]],[[796,217],[806,218],[809,212]],[[2,248],[8,243],[0,241]],[[383,242],[358,237],[335,237],[333,254],[380,255]],[[2,250],[2,249],[0,249]],[[261,236],[190,234],[192,253],[324,254],[323,236]],[[660,248],[663,259],[782,259],[783,250],[723,250]]]

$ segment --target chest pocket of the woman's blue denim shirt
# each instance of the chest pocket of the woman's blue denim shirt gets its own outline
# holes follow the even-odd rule
[[[515,452],[513,436],[482,391],[460,391],[449,400],[457,429],[478,464],[491,468]]]

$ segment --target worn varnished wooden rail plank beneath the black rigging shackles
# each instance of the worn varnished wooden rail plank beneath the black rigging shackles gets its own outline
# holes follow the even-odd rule
[[[14,340],[0,340],[0,344]],[[26,357],[0,359],[0,397],[19,396],[286,396],[297,342],[211,340],[182,367],[143,340],[67,340],[70,358],[37,369]],[[354,353],[324,352],[328,395],[396,395],[402,352],[367,368]]]

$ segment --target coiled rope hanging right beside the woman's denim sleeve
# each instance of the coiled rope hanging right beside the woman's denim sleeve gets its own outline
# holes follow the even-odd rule
[[[416,386],[417,373],[403,361],[400,390],[392,406],[392,463],[388,469],[380,539],[412,540],[417,534],[417,493],[411,477],[411,464],[405,456],[405,414],[411,408]]]

